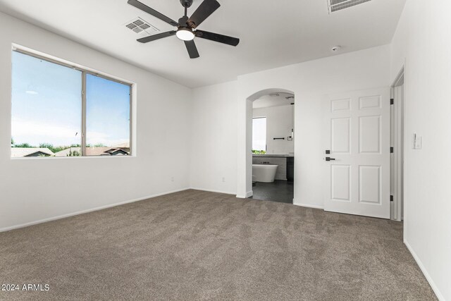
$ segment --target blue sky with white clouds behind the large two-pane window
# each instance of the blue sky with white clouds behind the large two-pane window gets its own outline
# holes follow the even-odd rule
[[[16,144],[80,144],[82,73],[13,51],[11,136]],[[128,142],[130,87],[87,75],[87,143]]]

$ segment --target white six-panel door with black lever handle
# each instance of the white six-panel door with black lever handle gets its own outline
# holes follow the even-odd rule
[[[328,95],[324,111],[324,209],[390,219],[390,89]]]

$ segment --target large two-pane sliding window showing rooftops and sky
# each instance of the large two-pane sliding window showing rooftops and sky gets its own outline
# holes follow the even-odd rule
[[[127,156],[131,85],[12,53],[11,156]]]

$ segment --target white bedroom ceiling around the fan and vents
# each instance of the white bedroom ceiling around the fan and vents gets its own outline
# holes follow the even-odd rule
[[[188,87],[234,80],[237,75],[389,44],[405,0],[373,0],[328,14],[327,0],[218,0],[199,29],[239,37],[240,44],[196,39],[199,59],[189,59],[177,37],[148,44],[124,24],[140,17],[162,32],[175,27],[127,4],[127,0],[0,0],[0,11]],[[179,0],[142,0],[173,20]],[[194,0],[188,15],[201,3]],[[76,63],[76,62],[75,62]]]

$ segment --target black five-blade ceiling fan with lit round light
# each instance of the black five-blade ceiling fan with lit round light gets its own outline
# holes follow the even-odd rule
[[[204,30],[198,30],[197,26],[199,26],[206,18],[208,18],[216,9],[221,6],[216,0],[204,0],[202,4],[197,8],[196,11],[192,14],[190,18],[187,16],[188,8],[192,5],[193,0],[180,0],[180,3],[185,8],[185,16],[178,19],[178,22],[175,22],[171,18],[164,16],[162,13],[155,11],[153,8],[142,4],[137,0],[128,0],[128,4],[139,8],[140,10],[151,14],[152,16],[163,20],[166,23],[169,23],[175,27],[177,30],[171,30],[168,32],[161,32],[157,35],[151,35],[149,37],[143,37],[141,39],[137,39],[138,42],[147,43],[155,41],[156,39],[162,39],[163,37],[171,37],[176,35],[179,39],[185,42],[186,49],[188,54],[190,54],[191,59],[196,59],[199,57],[199,51],[197,51],[196,44],[194,44],[194,37],[200,37],[202,39],[210,39],[214,42],[219,42],[223,44],[228,44],[231,46],[237,46],[240,43],[240,39],[236,37],[228,37],[226,35],[219,35],[214,32],[207,32]]]

